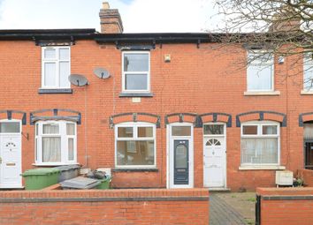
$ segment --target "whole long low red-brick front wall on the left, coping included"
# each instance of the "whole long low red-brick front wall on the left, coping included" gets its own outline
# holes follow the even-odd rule
[[[1,225],[209,224],[205,189],[0,191]]]

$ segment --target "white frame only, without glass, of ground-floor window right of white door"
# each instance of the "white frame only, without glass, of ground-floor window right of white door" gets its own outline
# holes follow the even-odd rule
[[[264,125],[276,125],[277,134],[262,134]],[[243,126],[257,126],[257,134],[243,134]],[[277,163],[242,163],[242,149],[241,139],[262,139],[262,138],[277,138],[278,146],[278,162]],[[240,126],[240,166],[252,166],[252,167],[266,167],[266,166],[279,166],[280,165],[280,124],[274,121],[248,121],[244,122]]]

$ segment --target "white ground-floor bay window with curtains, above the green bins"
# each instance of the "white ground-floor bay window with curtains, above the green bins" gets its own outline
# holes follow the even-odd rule
[[[77,162],[76,123],[39,121],[35,124],[35,164],[65,165]]]

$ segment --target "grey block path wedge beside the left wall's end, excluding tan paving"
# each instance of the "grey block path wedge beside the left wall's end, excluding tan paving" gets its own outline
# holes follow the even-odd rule
[[[210,193],[210,225],[245,225],[243,216],[216,193]]]

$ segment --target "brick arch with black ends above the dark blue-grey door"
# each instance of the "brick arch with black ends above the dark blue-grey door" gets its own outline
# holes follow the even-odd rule
[[[164,118],[165,126],[172,123],[192,123],[195,127],[202,127],[201,118],[195,113],[172,113]]]

